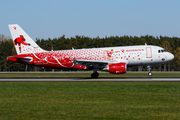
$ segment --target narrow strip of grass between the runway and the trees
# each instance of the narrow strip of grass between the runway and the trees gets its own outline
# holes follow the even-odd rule
[[[90,77],[92,73],[0,73],[1,77]],[[180,77],[180,72],[153,72],[148,76],[148,72],[131,72],[126,74],[99,73],[99,77]]]

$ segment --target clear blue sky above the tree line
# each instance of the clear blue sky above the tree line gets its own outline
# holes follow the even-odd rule
[[[1,0],[0,34],[19,24],[34,40],[87,36],[180,37],[180,0]]]

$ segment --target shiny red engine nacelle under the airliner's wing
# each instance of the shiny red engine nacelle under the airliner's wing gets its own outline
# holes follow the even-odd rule
[[[114,63],[108,64],[109,72],[113,74],[123,74],[126,73],[126,63]]]

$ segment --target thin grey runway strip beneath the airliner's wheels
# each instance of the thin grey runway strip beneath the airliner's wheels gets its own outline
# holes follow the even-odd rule
[[[0,78],[0,82],[180,82],[180,78]]]

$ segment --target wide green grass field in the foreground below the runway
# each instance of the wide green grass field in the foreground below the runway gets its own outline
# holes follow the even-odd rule
[[[180,82],[0,82],[0,119],[180,119]]]

